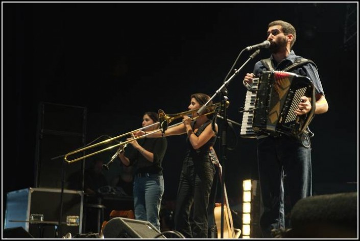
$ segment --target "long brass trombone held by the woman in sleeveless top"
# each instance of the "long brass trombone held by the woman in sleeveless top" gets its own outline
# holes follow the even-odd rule
[[[212,113],[215,111],[215,109],[220,106],[220,104],[221,104],[221,103],[219,102],[219,103],[216,103],[216,104],[213,104],[213,105],[209,105],[209,106],[208,106],[209,108],[213,108],[212,111],[210,111],[210,112],[208,112],[208,113],[205,113],[205,114],[203,114],[203,115],[201,115],[201,116],[208,115],[208,114],[212,114]],[[229,102],[226,101],[226,104],[225,104],[225,105],[226,105],[226,107],[228,107],[228,106],[229,106]],[[147,135],[150,135],[150,134],[153,134],[153,133],[155,133],[155,132],[161,131],[162,133],[164,133],[164,131],[168,128],[169,124],[170,124],[171,122],[173,122],[175,119],[181,118],[181,117],[183,117],[183,116],[185,116],[185,115],[189,115],[189,114],[196,113],[198,110],[199,110],[199,109],[188,110],[188,111],[180,112],[180,113],[177,113],[177,114],[167,115],[167,114],[164,113],[163,110],[160,109],[160,110],[158,111],[159,122],[154,123],[154,124],[151,124],[151,125],[146,126],[146,127],[141,127],[141,128],[139,128],[139,129],[136,129],[136,130],[127,132],[127,133],[122,134],[122,135],[118,135],[118,136],[115,136],[115,137],[112,137],[112,138],[103,140],[103,141],[101,141],[101,142],[92,144],[91,146],[88,146],[88,147],[84,147],[84,148],[77,149],[77,150],[75,150],[75,151],[71,151],[71,152],[67,153],[67,154],[64,156],[64,160],[65,160],[66,162],[68,162],[68,163],[73,163],[73,162],[76,162],[76,161],[85,159],[85,158],[87,158],[87,157],[90,157],[90,156],[93,156],[93,155],[96,155],[96,154],[99,154],[99,153],[102,153],[102,152],[111,150],[111,149],[113,149],[113,148],[115,148],[115,147],[118,147],[118,146],[121,146],[121,145],[124,145],[124,147],[119,148],[119,150],[124,150],[124,148],[126,147],[126,145],[127,145],[129,142],[131,142],[131,141],[133,141],[133,140],[136,140],[136,139],[139,139],[139,138],[143,138],[143,137],[145,137],[145,136],[147,136]],[[197,119],[198,117],[200,117],[200,116],[195,116],[195,117],[192,118],[192,119],[195,120],[195,119]],[[178,125],[180,125],[180,124],[182,124],[182,122],[177,123],[177,124],[174,124],[174,125],[170,126],[169,128],[174,127],[174,126],[178,126]],[[143,129],[146,129],[146,128],[149,128],[149,127],[152,127],[152,126],[155,126],[155,125],[159,125],[159,126],[160,126],[160,129],[158,129],[158,130],[156,130],[156,131],[153,131],[153,132],[150,132],[150,133],[147,133],[147,134],[142,135],[142,136],[135,137],[135,138],[133,138],[133,139],[131,139],[131,140],[127,140],[127,141],[124,141],[124,142],[120,142],[120,143],[114,144],[113,146],[110,146],[110,147],[101,149],[101,150],[99,150],[99,151],[94,151],[94,152],[92,152],[92,153],[90,153],[90,154],[87,154],[87,155],[84,155],[84,156],[81,156],[81,157],[78,157],[78,158],[75,158],[75,159],[72,159],[72,160],[71,160],[71,159],[68,160],[68,157],[71,156],[71,155],[74,155],[74,154],[77,154],[77,153],[79,153],[79,152],[83,152],[83,151],[86,151],[86,150],[89,150],[89,149],[92,149],[92,148],[95,148],[95,147],[104,145],[104,144],[106,144],[106,143],[108,143],[108,142],[110,142],[110,141],[112,141],[112,140],[116,140],[116,139],[118,139],[118,138],[120,138],[120,137],[123,137],[123,136],[126,136],[126,135],[130,135],[130,134],[132,134],[132,133],[134,133],[134,132],[136,132],[136,131],[140,131],[140,130],[143,130]],[[119,150],[118,150],[116,153],[120,153]],[[115,153],[115,154],[116,154],[116,153]],[[115,155],[114,155],[114,156],[115,156]],[[112,160],[115,158],[114,156],[113,156]],[[116,156],[117,156],[117,155],[116,155]]]

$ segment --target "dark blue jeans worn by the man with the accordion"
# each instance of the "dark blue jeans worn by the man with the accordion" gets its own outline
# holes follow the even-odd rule
[[[266,137],[258,140],[258,171],[263,204],[260,226],[264,238],[272,229],[285,227],[284,177],[291,206],[311,196],[310,147],[292,137]]]

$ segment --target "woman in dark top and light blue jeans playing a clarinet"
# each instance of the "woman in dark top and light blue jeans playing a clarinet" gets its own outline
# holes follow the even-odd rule
[[[146,112],[142,118],[144,130],[152,131],[158,125],[157,113]],[[150,126],[151,125],[151,126]],[[127,138],[131,140],[133,138]],[[162,176],[162,159],[167,148],[166,138],[141,138],[129,142],[133,149],[120,152],[118,157],[126,166],[136,167],[134,176],[134,209],[135,219],[149,221],[160,231],[159,212],[162,195],[164,193],[164,179]]]

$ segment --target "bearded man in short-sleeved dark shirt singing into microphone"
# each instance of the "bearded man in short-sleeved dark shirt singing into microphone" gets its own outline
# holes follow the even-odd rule
[[[271,42],[269,50],[272,55],[255,64],[253,73],[246,74],[244,84],[251,85],[253,79],[260,77],[263,71],[285,70],[308,77],[315,88],[315,101],[302,95],[293,113],[302,116],[310,111],[315,114],[327,112],[328,104],[315,63],[295,55],[292,50],[296,40],[295,28],[288,22],[276,20],[269,23],[267,36],[267,40]],[[273,229],[285,228],[284,181],[289,187],[287,195],[292,206],[300,199],[311,196],[310,140],[306,132],[299,134],[303,138],[276,131],[274,134],[257,136],[258,172],[263,202],[260,226],[263,238],[272,237]]]

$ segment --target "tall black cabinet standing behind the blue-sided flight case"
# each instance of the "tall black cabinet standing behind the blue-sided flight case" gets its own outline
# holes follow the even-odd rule
[[[40,103],[36,141],[35,187],[61,188],[62,171],[65,180],[74,173],[83,176],[84,161],[64,163],[64,155],[85,143],[85,107]],[[82,190],[82,178],[77,190]]]

